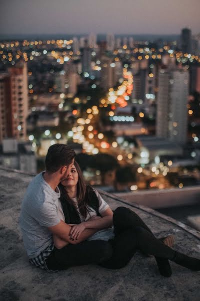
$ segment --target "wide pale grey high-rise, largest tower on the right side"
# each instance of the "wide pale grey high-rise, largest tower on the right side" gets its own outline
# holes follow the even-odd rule
[[[187,137],[188,70],[160,69],[158,74],[156,136],[184,143]]]

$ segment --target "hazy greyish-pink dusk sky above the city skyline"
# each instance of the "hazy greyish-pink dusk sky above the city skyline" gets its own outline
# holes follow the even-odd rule
[[[0,35],[200,32],[199,0],[0,0]]]

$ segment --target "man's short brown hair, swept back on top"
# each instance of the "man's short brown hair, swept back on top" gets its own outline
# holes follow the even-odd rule
[[[75,158],[74,150],[66,144],[53,144],[48,148],[45,159],[45,169],[48,173],[55,173],[62,166],[69,166]]]

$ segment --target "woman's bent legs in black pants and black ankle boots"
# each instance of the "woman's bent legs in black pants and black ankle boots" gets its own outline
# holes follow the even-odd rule
[[[115,238],[112,257],[101,263],[107,268],[120,268],[131,259],[136,249],[154,255],[160,274],[171,275],[168,259],[193,270],[200,269],[200,260],[174,251],[152,234],[145,223],[131,210],[118,207],[113,214]]]

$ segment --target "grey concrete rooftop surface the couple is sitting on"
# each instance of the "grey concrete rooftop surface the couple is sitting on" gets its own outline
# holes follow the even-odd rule
[[[18,226],[20,204],[32,176],[0,169],[0,301],[199,301],[200,272],[171,262],[172,276],[158,272],[154,258],[137,252],[128,265],[97,265],[47,273],[28,263]],[[174,248],[200,258],[200,232],[148,207],[100,192],[112,210],[135,211],[157,237],[174,234]]]

